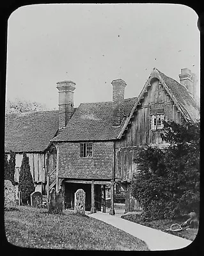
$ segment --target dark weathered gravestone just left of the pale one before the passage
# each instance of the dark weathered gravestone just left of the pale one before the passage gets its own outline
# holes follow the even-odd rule
[[[56,193],[55,189],[52,188],[49,194],[49,213],[62,214],[63,212],[63,191],[59,189]]]

